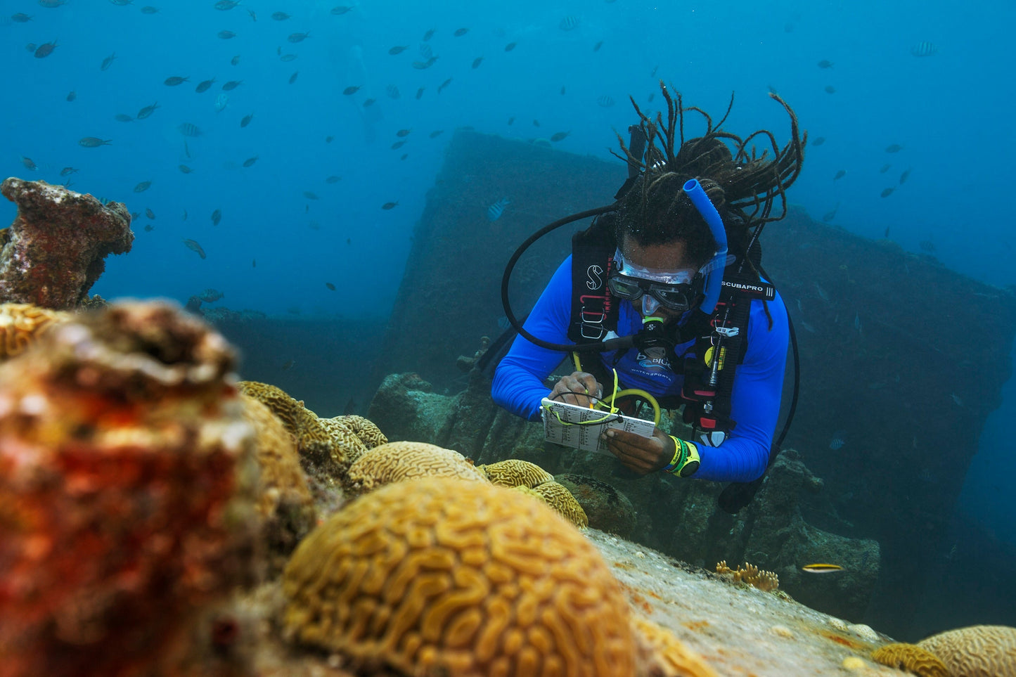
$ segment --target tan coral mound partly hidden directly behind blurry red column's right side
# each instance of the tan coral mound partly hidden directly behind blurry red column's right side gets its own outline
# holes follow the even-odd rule
[[[260,482],[257,511],[269,569],[279,573],[285,559],[317,521],[317,511],[293,435],[271,410],[241,394],[244,419],[254,427]]]

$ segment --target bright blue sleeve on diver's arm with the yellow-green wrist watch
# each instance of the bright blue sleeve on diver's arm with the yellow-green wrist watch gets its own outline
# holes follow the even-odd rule
[[[737,426],[718,447],[699,445],[701,465],[696,479],[751,482],[762,476],[769,463],[789,341],[786,307],[778,295],[769,303],[769,312],[772,329],[762,302],[752,301],[748,352],[738,366],[731,401],[731,418]]]

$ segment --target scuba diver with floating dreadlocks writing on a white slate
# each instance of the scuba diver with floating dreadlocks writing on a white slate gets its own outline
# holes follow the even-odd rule
[[[502,292],[522,338],[497,364],[492,396],[529,420],[541,418],[544,397],[600,408],[605,416],[648,404],[651,437],[604,433],[634,474],[760,483],[778,451],[773,434],[792,328],[761,272],[758,236],[786,214],[784,191],[800,175],[807,133],[802,137],[793,111],[775,95],[790,119],[782,148],[765,130],[742,139],[720,129],[733,97],[714,126],[701,109],[683,107],[680,94],[672,97],[662,82],[660,89],[665,121],[632,100],[640,123],[629,128],[627,146],[619,135],[629,177],[616,201],[545,228],[509,263]],[[686,140],[691,111],[703,116],[706,131]],[[760,153],[749,146],[759,138],[769,146]],[[772,216],[777,199],[782,208]],[[507,305],[518,255],[552,228],[591,213],[592,225],[573,237],[572,254],[519,322]],[[572,354],[573,371],[548,392],[563,352]],[[689,439],[658,426],[659,408],[681,406]]]

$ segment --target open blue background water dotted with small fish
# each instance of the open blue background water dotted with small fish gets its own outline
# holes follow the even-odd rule
[[[687,105],[717,116],[736,91],[727,128],[741,134],[769,128],[784,141],[785,115],[767,96],[775,89],[813,141],[826,139],[809,144],[791,201],[816,219],[835,210],[832,224],[867,237],[888,233],[913,251],[934,247],[946,265],[989,284],[1016,282],[1006,200],[1016,135],[1009,128],[1013,94],[1003,84],[1011,79],[1012,3],[364,0],[341,15],[329,11],[336,0],[245,0],[229,11],[215,10],[213,0],[152,0],[153,14],[140,11],[143,0],[0,4],[6,66],[0,173],[61,183],[60,170],[74,167],[78,172],[67,177],[73,189],[155,214],[150,232],[148,219],[135,222],[129,255],[108,259],[92,289],[106,298],[185,302],[214,288],[234,309],[384,317],[456,126],[524,139],[568,132],[557,147],[611,159],[614,130],[633,121],[628,96],[657,110],[658,94],[651,104],[648,98],[660,77]],[[292,17],[273,20],[276,11]],[[12,21],[15,12],[33,18]],[[563,21],[576,25],[566,30]],[[461,27],[468,32],[454,37]],[[416,69],[430,28],[427,45],[438,59]],[[224,29],[236,38],[217,38]],[[308,30],[304,42],[288,41]],[[25,49],[53,40],[58,47],[46,58]],[[938,52],[913,56],[923,42]],[[506,52],[508,43],[517,46]],[[407,49],[389,55],[396,45]],[[283,62],[279,53],[297,58]],[[231,65],[236,55],[239,63]],[[483,61],[473,68],[478,57]],[[820,68],[823,59],[832,67]],[[189,80],[167,86],[172,75]],[[211,88],[196,94],[196,84],[211,77]],[[243,83],[225,93],[227,107],[216,112],[228,80]],[[361,89],[343,95],[351,85]],[[398,88],[397,99],[389,85]],[[71,90],[77,98],[67,102]],[[604,97],[615,104],[597,103]],[[377,101],[364,108],[369,98]],[[155,102],[158,109],[145,120],[114,119]],[[241,128],[248,114],[253,121]],[[181,135],[185,122],[202,135]],[[399,129],[411,131],[392,149],[402,140]],[[435,130],[444,133],[430,138]],[[84,136],[112,143],[84,148],[78,145]],[[890,144],[903,148],[890,153]],[[242,166],[255,156],[253,166]],[[22,157],[38,170],[28,171]],[[181,164],[193,173],[181,173]],[[890,169],[880,173],[885,164]],[[839,170],[846,175],[834,181]],[[900,184],[904,170],[908,180]],[[332,175],[341,180],[326,183]],[[151,187],[134,193],[142,181]],[[892,194],[881,197],[890,187]],[[308,191],[319,199],[309,199]],[[503,196],[491,195],[490,202]],[[394,208],[381,208],[394,201]],[[210,220],[216,208],[217,227]],[[13,205],[0,205],[0,222],[14,213]],[[532,227],[560,216],[532,213]],[[207,258],[187,249],[184,238],[198,241]],[[492,263],[492,274],[500,274],[499,265]],[[976,340],[977,327],[970,335]],[[1014,412],[1009,388],[981,439],[964,505],[1016,543],[1010,517],[1016,503],[1008,491],[1016,449],[1007,429]]]

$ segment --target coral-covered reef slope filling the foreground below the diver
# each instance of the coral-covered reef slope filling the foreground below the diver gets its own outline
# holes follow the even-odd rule
[[[641,524],[605,480],[320,418],[172,304],[3,313],[0,677],[1016,675],[1013,628],[897,644],[772,571],[586,528]],[[432,430],[475,432],[394,380]],[[784,465],[764,504],[817,483]],[[817,538],[782,512],[765,534]]]

